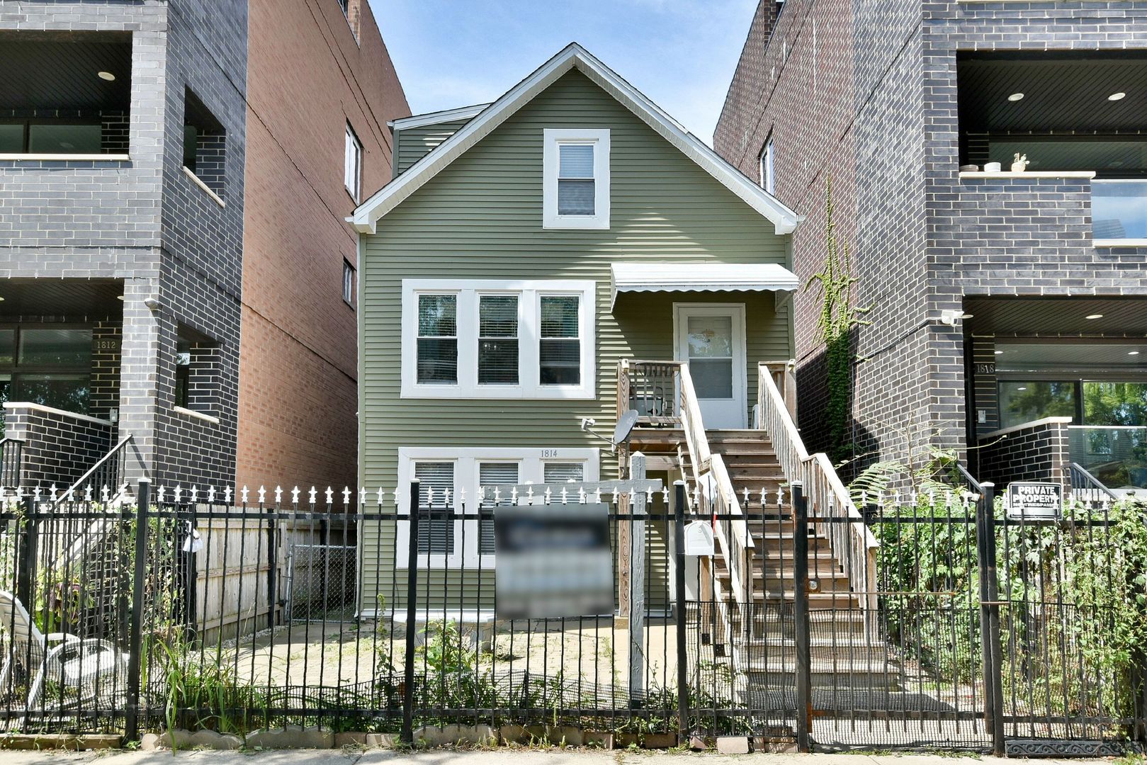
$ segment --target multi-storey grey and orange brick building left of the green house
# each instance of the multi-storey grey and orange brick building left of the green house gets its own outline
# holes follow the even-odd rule
[[[342,187],[408,114],[365,0],[0,2],[0,57],[5,485],[127,436],[120,478],[350,482]]]

